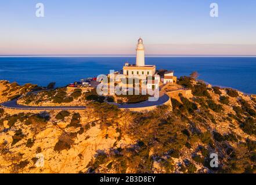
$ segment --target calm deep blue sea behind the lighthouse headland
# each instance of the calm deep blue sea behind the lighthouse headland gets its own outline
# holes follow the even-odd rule
[[[0,57],[0,79],[60,87],[119,71],[127,61],[135,63],[135,57]],[[174,70],[178,77],[197,71],[210,84],[256,94],[256,57],[146,57],[146,64]]]

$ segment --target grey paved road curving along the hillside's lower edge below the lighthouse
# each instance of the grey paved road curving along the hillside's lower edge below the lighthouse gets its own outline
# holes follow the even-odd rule
[[[163,105],[163,103],[167,102],[170,99],[167,94],[159,97],[158,101],[150,102],[145,101],[141,103],[132,103],[132,104],[116,104],[120,109],[132,109],[132,108],[146,108],[149,106],[158,106]],[[8,109],[20,109],[20,110],[84,110],[86,106],[25,106],[17,103],[17,99],[9,102],[4,102],[0,104],[3,108]]]

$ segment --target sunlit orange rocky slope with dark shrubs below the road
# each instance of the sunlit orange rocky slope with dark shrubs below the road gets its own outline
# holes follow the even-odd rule
[[[0,109],[0,172],[255,172],[255,97],[189,77],[179,84],[193,96],[171,97],[172,111],[121,111],[101,102],[69,112]],[[21,94],[0,85],[2,101]]]

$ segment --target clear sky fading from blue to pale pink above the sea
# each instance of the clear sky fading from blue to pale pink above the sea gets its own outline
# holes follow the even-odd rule
[[[0,0],[0,55],[256,55],[255,33],[255,0]]]

